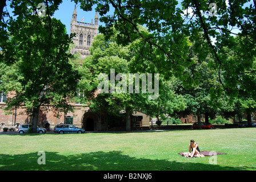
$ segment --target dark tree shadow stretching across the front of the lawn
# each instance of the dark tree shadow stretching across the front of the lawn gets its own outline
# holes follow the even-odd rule
[[[90,152],[79,155],[60,155],[45,152],[46,164],[38,164],[37,152],[29,154],[0,154],[0,170],[3,171],[191,171],[218,170],[238,171],[247,167],[223,167],[213,164],[177,162],[175,160],[152,160],[123,155],[121,151]],[[181,156],[182,158],[182,156]],[[41,161],[39,159],[39,161]],[[255,170],[255,168],[253,169]]]

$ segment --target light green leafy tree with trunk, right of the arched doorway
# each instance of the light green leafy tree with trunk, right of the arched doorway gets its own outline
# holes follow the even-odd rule
[[[122,46],[117,44],[118,36],[120,33],[115,31],[106,41],[105,35],[99,34],[90,48],[90,56],[83,62],[83,77],[79,86],[87,96],[82,99],[87,100],[90,108],[112,114],[125,110],[126,130],[129,131],[130,115],[134,110],[159,115],[164,114],[159,106],[165,107],[165,114],[185,107],[181,97],[175,100],[175,94],[169,90],[170,85],[167,82],[163,84],[163,78],[158,79],[154,75],[157,69],[147,69],[146,65],[141,69],[141,65],[135,63],[138,56],[136,47],[143,40],[138,39],[134,44]],[[95,97],[97,92],[101,93]]]

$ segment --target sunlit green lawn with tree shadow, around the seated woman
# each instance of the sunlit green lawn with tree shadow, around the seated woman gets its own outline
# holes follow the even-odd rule
[[[255,170],[256,128],[131,133],[0,135],[0,170]],[[185,158],[190,139],[200,150],[225,152]],[[39,165],[39,151],[46,164]]]

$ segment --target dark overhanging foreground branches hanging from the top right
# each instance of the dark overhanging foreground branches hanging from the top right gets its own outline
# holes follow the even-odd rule
[[[244,85],[247,92],[256,97],[254,78],[243,74],[251,67],[251,60],[256,55],[252,48],[256,43],[255,1],[74,1],[81,3],[85,11],[97,5],[100,20],[106,23],[99,30],[110,36],[113,34],[110,27],[115,24],[122,35],[119,43],[134,42],[138,35],[141,36],[143,46],[138,50],[144,59],[138,60],[139,64],[154,62],[166,77],[175,75],[186,80],[182,73],[191,64],[187,57],[189,45],[186,39],[189,37],[191,42],[196,42],[197,53],[211,53],[214,64],[209,66],[217,69],[219,82],[226,93],[237,96],[237,85]],[[114,13],[109,14],[110,7],[114,8]],[[150,34],[139,30],[138,24],[149,28]],[[234,52],[230,55],[226,47]]]

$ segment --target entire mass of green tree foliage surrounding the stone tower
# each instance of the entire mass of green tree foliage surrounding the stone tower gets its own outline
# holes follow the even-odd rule
[[[254,1],[216,0],[216,16],[209,15],[210,1],[73,1],[85,11],[96,5],[99,20],[105,23],[99,27],[104,34],[94,39],[81,68],[70,63],[71,39],[65,26],[51,18],[62,1],[45,1],[43,17],[38,16],[37,0],[11,1],[15,18],[1,10],[7,20],[1,17],[0,22],[0,89],[15,93],[6,110],[21,105],[30,115],[39,107],[53,106],[57,113],[72,110],[69,102],[80,80],[78,89],[86,97],[75,100],[111,113],[133,108],[157,117],[205,113],[213,118],[255,111]],[[186,13],[189,9],[191,14]],[[159,97],[154,101],[148,100],[149,93],[94,97],[98,75],[110,77],[111,68],[125,75],[161,73]]]

